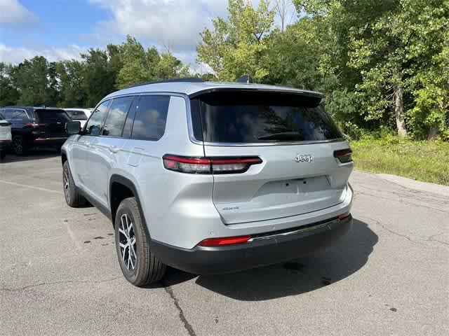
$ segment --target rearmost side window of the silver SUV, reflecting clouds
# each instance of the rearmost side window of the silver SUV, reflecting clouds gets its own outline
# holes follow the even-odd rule
[[[170,96],[141,96],[135,113],[133,139],[159,140],[166,130]]]

